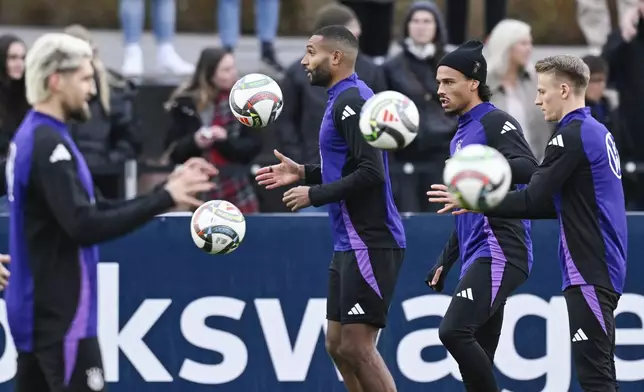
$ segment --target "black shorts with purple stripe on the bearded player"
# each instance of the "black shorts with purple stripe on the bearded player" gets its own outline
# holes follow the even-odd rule
[[[335,252],[329,267],[326,318],[384,328],[404,249]]]

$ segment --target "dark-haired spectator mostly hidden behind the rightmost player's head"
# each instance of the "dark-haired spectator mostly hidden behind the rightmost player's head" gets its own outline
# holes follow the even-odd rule
[[[599,56],[585,56],[584,63],[590,69],[590,82],[586,90],[586,106],[590,108],[592,116],[604,124],[613,134],[615,140],[620,140],[620,132],[617,126],[617,115],[615,107],[610,99],[604,94],[606,92],[606,81],[608,80],[608,64]]]

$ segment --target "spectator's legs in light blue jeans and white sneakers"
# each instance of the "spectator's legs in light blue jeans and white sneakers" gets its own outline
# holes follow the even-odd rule
[[[157,44],[157,72],[191,74],[194,66],[184,61],[174,49],[177,5],[174,0],[151,0],[152,30]],[[122,72],[126,76],[143,74],[141,36],[145,22],[145,0],[120,0],[121,27],[125,38]]]

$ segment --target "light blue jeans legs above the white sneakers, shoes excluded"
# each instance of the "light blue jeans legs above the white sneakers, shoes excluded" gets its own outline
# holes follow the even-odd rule
[[[125,44],[138,44],[145,22],[145,0],[120,0],[119,14]],[[177,5],[174,0],[152,0],[152,30],[157,44],[172,41],[176,17]]]

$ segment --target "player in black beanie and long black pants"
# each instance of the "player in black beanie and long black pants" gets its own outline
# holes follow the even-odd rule
[[[453,156],[470,144],[498,150],[512,169],[512,189],[530,182],[537,169],[519,123],[489,103],[485,84],[487,62],[483,44],[469,41],[445,55],[436,71],[438,97],[446,112],[458,115],[458,129],[450,145]],[[444,203],[438,213],[452,212],[453,200],[443,184],[432,185],[429,201]],[[457,259],[461,275],[438,336],[456,360],[468,392],[497,392],[494,354],[503,324],[507,297],[528,278],[532,265],[530,222],[486,218],[458,211],[455,230],[427,284],[436,291]]]

